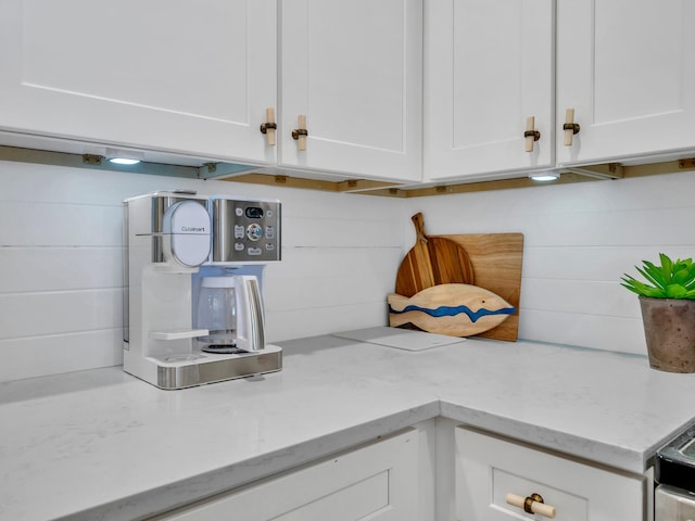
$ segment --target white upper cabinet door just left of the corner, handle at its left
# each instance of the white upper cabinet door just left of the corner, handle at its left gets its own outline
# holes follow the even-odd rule
[[[419,181],[421,0],[282,5],[279,163]],[[306,150],[291,136],[306,116]]]

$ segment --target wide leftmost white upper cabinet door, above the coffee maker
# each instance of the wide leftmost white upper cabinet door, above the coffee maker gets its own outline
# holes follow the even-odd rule
[[[0,129],[275,161],[275,0],[3,0]]]

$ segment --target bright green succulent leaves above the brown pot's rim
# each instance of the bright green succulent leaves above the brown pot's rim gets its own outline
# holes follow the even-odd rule
[[[634,277],[624,274],[621,277],[621,285],[637,295],[650,298],[688,298],[695,300],[695,264],[692,258],[675,262],[668,255],[659,253],[660,266],[648,260],[642,260],[642,268],[635,266],[637,271],[648,283],[641,282]]]

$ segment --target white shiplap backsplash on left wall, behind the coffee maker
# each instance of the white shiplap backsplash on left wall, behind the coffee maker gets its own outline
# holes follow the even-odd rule
[[[122,364],[122,201],[154,190],[277,198],[267,339],[386,323],[401,202],[0,162],[0,382]]]

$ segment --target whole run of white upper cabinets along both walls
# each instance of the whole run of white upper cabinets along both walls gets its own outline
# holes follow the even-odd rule
[[[410,185],[686,157],[693,20],[690,0],[3,0],[0,139]]]

